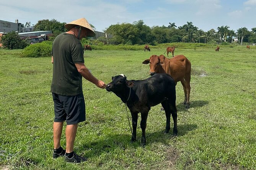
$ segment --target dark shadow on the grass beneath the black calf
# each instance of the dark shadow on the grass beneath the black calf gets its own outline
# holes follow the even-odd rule
[[[196,124],[178,125],[178,136],[184,136],[189,131],[197,128]],[[170,143],[175,143],[176,136],[173,136],[173,128],[168,134],[164,134],[165,128],[159,129],[156,132],[150,133],[146,129],[147,146],[153,143],[162,143],[169,146]],[[101,154],[122,152],[122,150],[130,150],[132,148],[140,148],[140,138],[142,136],[141,129],[137,129],[137,141],[130,143],[131,134],[111,134],[93,142],[84,143],[79,150],[85,151],[85,155],[89,157],[98,157]],[[118,151],[119,150],[119,151]]]

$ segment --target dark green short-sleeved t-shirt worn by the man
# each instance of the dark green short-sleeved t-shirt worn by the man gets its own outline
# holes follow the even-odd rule
[[[53,75],[51,92],[72,96],[83,93],[82,75],[75,63],[84,63],[83,47],[74,35],[62,33],[52,44]]]

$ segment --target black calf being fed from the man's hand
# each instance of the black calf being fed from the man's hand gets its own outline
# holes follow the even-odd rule
[[[177,135],[177,109],[175,82],[168,74],[155,74],[145,80],[127,80],[124,75],[112,77],[107,84],[107,91],[112,91],[122,102],[127,103],[132,114],[132,139],[136,141],[138,113],[141,113],[140,128],[142,129],[141,146],[146,145],[147,117],[150,107],[161,103],[165,109],[165,133],[170,130],[170,117],[173,117],[173,135]]]

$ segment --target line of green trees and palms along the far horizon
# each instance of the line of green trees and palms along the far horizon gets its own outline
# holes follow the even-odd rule
[[[61,32],[67,31],[64,27],[66,22],[59,22],[55,19],[39,20],[35,25],[37,30],[52,30],[57,36]],[[95,27],[91,25],[93,29]],[[117,23],[109,26],[104,32],[110,38],[99,38],[109,44],[150,44],[172,42],[192,42],[192,43],[233,43],[233,38],[238,38],[238,43],[256,43],[256,27],[249,31],[246,27],[238,30],[230,30],[229,26],[217,27],[217,30],[210,29],[204,32],[202,29],[194,26],[192,22],[187,22],[183,26],[177,27],[175,23],[169,22],[168,26],[147,26],[143,20],[133,23]]]

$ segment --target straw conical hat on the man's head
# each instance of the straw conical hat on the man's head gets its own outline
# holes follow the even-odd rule
[[[75,21],[69,22],[69,23],[65,24],[64,26],[67,30],[70,30],[76,26],[82,26],[87,29],[86,37],[94,37],[96,35],[94,30],[92,29],[91,25],[85,18],[80,18]]]

